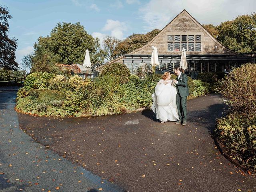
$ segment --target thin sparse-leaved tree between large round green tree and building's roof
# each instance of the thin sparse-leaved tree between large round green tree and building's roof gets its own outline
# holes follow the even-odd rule
[[[103,40],[103,48],[105,51],[106,61],[112,61],[118,57],[118,53],[116,51],[118,43],[121,41],[115,37],[106,36]]]

